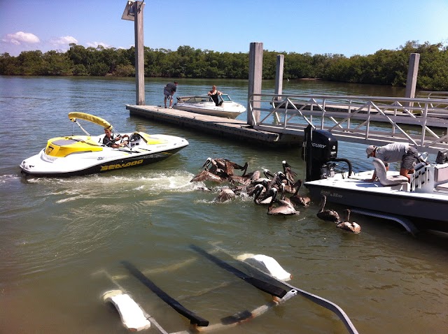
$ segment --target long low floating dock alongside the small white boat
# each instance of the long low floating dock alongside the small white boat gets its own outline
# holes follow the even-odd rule
[[[303,136],[301,135],[256,130],[246,122],[238,119],[201,115],[158,106],[126,105],[126,109],[130,110],[130,115],[132,116],[175,124],[176,126],[193,129],[201,133],[209,133],[213,136],[239,140],[253,145],[278,148],[301,147],[303,143]]]

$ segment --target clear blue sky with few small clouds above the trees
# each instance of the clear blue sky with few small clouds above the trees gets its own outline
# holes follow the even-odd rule
[[[370,55],[407,41],[448,45],[448,0],[146,0],[144,45],[248,52]],[[0,0],[0,54],[66,51],[69,43],[134,45],[125,0]]]

